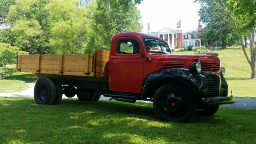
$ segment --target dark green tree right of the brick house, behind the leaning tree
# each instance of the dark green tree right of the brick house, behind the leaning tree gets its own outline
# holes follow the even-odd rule
[[[214,6],[214,4],[210,4],[210,2],[201,2],[200,4],[199,22],[206,24],[203,41],[210,42],[214,46],[221,45],[222,48],[226,48],[227,44],[233,44],[237,38],[234,34],[234,26],[225,11]]]

